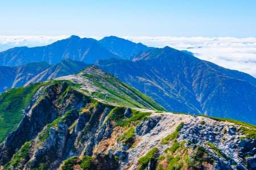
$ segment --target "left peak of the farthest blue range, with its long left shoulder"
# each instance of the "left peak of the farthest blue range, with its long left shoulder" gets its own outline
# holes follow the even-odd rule
[[[100,52],[100,53],[99,53]],[[97,40],[71,36],[46,46],[33,48],[13,48],[0,53],[4,66],[18,66],[29,62],[48,62],[56,64],[65,58],[94,63],[98,59],[116,57]]]

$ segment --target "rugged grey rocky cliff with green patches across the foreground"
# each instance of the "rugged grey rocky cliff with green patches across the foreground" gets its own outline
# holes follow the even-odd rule
[[[243,126],[101,103],[82,107],[44,126],[5,168],[255,169],[256,141],[243,138]]]

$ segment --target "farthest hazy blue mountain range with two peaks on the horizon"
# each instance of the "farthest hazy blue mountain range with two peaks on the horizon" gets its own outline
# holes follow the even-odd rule
[[[136,44],[114,36],[105,37],[100,41],[71,36],[46,46],[22,46],[6,50],[0,53],[0,63],[3,66],[19,66],[30,62],[56,64],[69,58],[92,64],[98,59],[129,59],[147,49],[147,46],[141,43]]]

